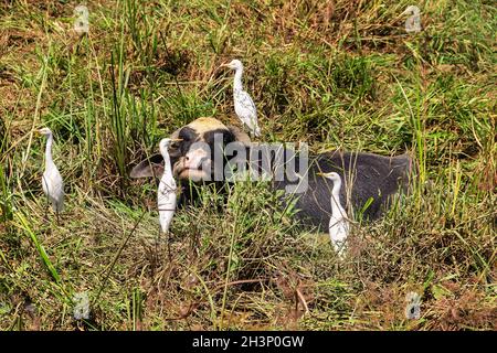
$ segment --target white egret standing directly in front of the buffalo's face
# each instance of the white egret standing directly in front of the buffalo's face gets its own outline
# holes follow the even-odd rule
[[[157,206],[159,208],[159,223],[162,233],[169,232],[172,216],[176,211],[176,181],[172,176],[171,160],[169,158],[168,148],[172,139],[162,139],[159,143],[160,154],[163,158],[163,174],[160,178],[159,188],[157,190]]]

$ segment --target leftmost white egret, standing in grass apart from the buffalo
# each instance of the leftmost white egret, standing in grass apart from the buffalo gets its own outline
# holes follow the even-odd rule
[[[52,203],[52,210],[55,212],[59,223],[59,213],[64,210],[64,181],[52,159],[52,131],[49,128],[43,128],[38,132],[46,136],[45,171],[42,176],[42,189],[49,202]]]

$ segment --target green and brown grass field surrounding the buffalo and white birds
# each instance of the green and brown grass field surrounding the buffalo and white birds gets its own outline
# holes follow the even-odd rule
[[[490,1],[420,2],[417,34],[405,1],[88,1],[83,38],[76,4],[0,4],[0,329],[496,329]],[[171,258],[156,244],[156,186],[127,173],[194,118],[239,124],[219,68],[234,57],[261,140],[416,157],[415,192],[353,226],[345,261],[263,183],[228,203],[202,190]],[[59,226],[41,126],[66,183]],[[84,291],[91,318],[74,320]]]

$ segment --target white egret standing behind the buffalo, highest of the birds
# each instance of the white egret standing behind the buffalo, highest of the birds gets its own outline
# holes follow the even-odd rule
[[[222,66],[235,69],[235,76],[233,81],[233,98],[237,117],[240,118],[240,120],[242,120],[243,125],[246,125],[251,133],[260,137],[261,129],[257,122],[257,109],[255,108],[255,104],[252,100],[251,96],[245,90],[243,90],[242,87],[242,62],[235,58],[228,64],[223,64]]]

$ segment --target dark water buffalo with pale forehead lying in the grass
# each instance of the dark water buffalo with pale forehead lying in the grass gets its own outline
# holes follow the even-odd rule
[[[304,224],[322,229],[327,228],[331,213],[332,182],[317,173],[339,173],[343,181],[340,199],[349,214],[353,210],[356,215],[360,213],[363,218],[372,221],[383,214],[393,194],[408,190],[414,170],[408,154],[383,157],[339,150],[310,154],[286,147],[282,147],[278,154],[274,146],[266,153],[271,170],[264,169],[261,168],[264,159],[261,145],[251,143],[248,136],[239,128],[225,126],[214,118],[199,118],[175,131],[171,138],[180,140],[170,147],[173,173],[180,182],[225,183],[226,165],[240,169],[243,164],[251,165],[251,170],[263,169],[269,174],[273,171],[274,176],[275,165],[284,165],[281,178],[273,178],[271,184],[296,197],[296,215]],[[288,164],[293,165],[290,170],[286,170]],[[130,176],[160,178],[162,165],[162,157],[154,154],[134,167]]]

